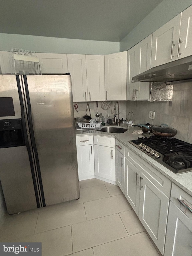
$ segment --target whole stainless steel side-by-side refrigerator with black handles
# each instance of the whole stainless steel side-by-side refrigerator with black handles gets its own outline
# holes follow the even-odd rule
[[[0,180],[9,214],[79,198],[70,75],[0,75]]]

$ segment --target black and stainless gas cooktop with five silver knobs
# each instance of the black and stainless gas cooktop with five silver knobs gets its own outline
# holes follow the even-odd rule
[[[192,171],[192,144],[176,138],[156,136],[130,140],[129,143],[176,174]]]

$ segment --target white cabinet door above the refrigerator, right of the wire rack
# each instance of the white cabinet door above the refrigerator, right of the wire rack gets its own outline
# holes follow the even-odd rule
[[[64,74],[68,72],[67,54],[36,53],[41,65],[42,74]]]

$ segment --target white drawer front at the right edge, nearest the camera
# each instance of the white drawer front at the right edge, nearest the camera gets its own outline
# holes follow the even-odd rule
[[[183,206],[178,200],[183,200],[184,203],[186,203],[190,208],[192,208],[192,197],[187,194],[185,191],[183,191],[181,188],[179,188],[174,183],[172,184],[171,188],[171,201],[192,220],[192,212],[187,210],[185,206]]]

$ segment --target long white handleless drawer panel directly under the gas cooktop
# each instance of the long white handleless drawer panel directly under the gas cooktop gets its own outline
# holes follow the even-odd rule
[[[125,157],[134,164],[157,188],[170,198],[171,181],[162,173],[140,158],[131,149],[125,147]]]

